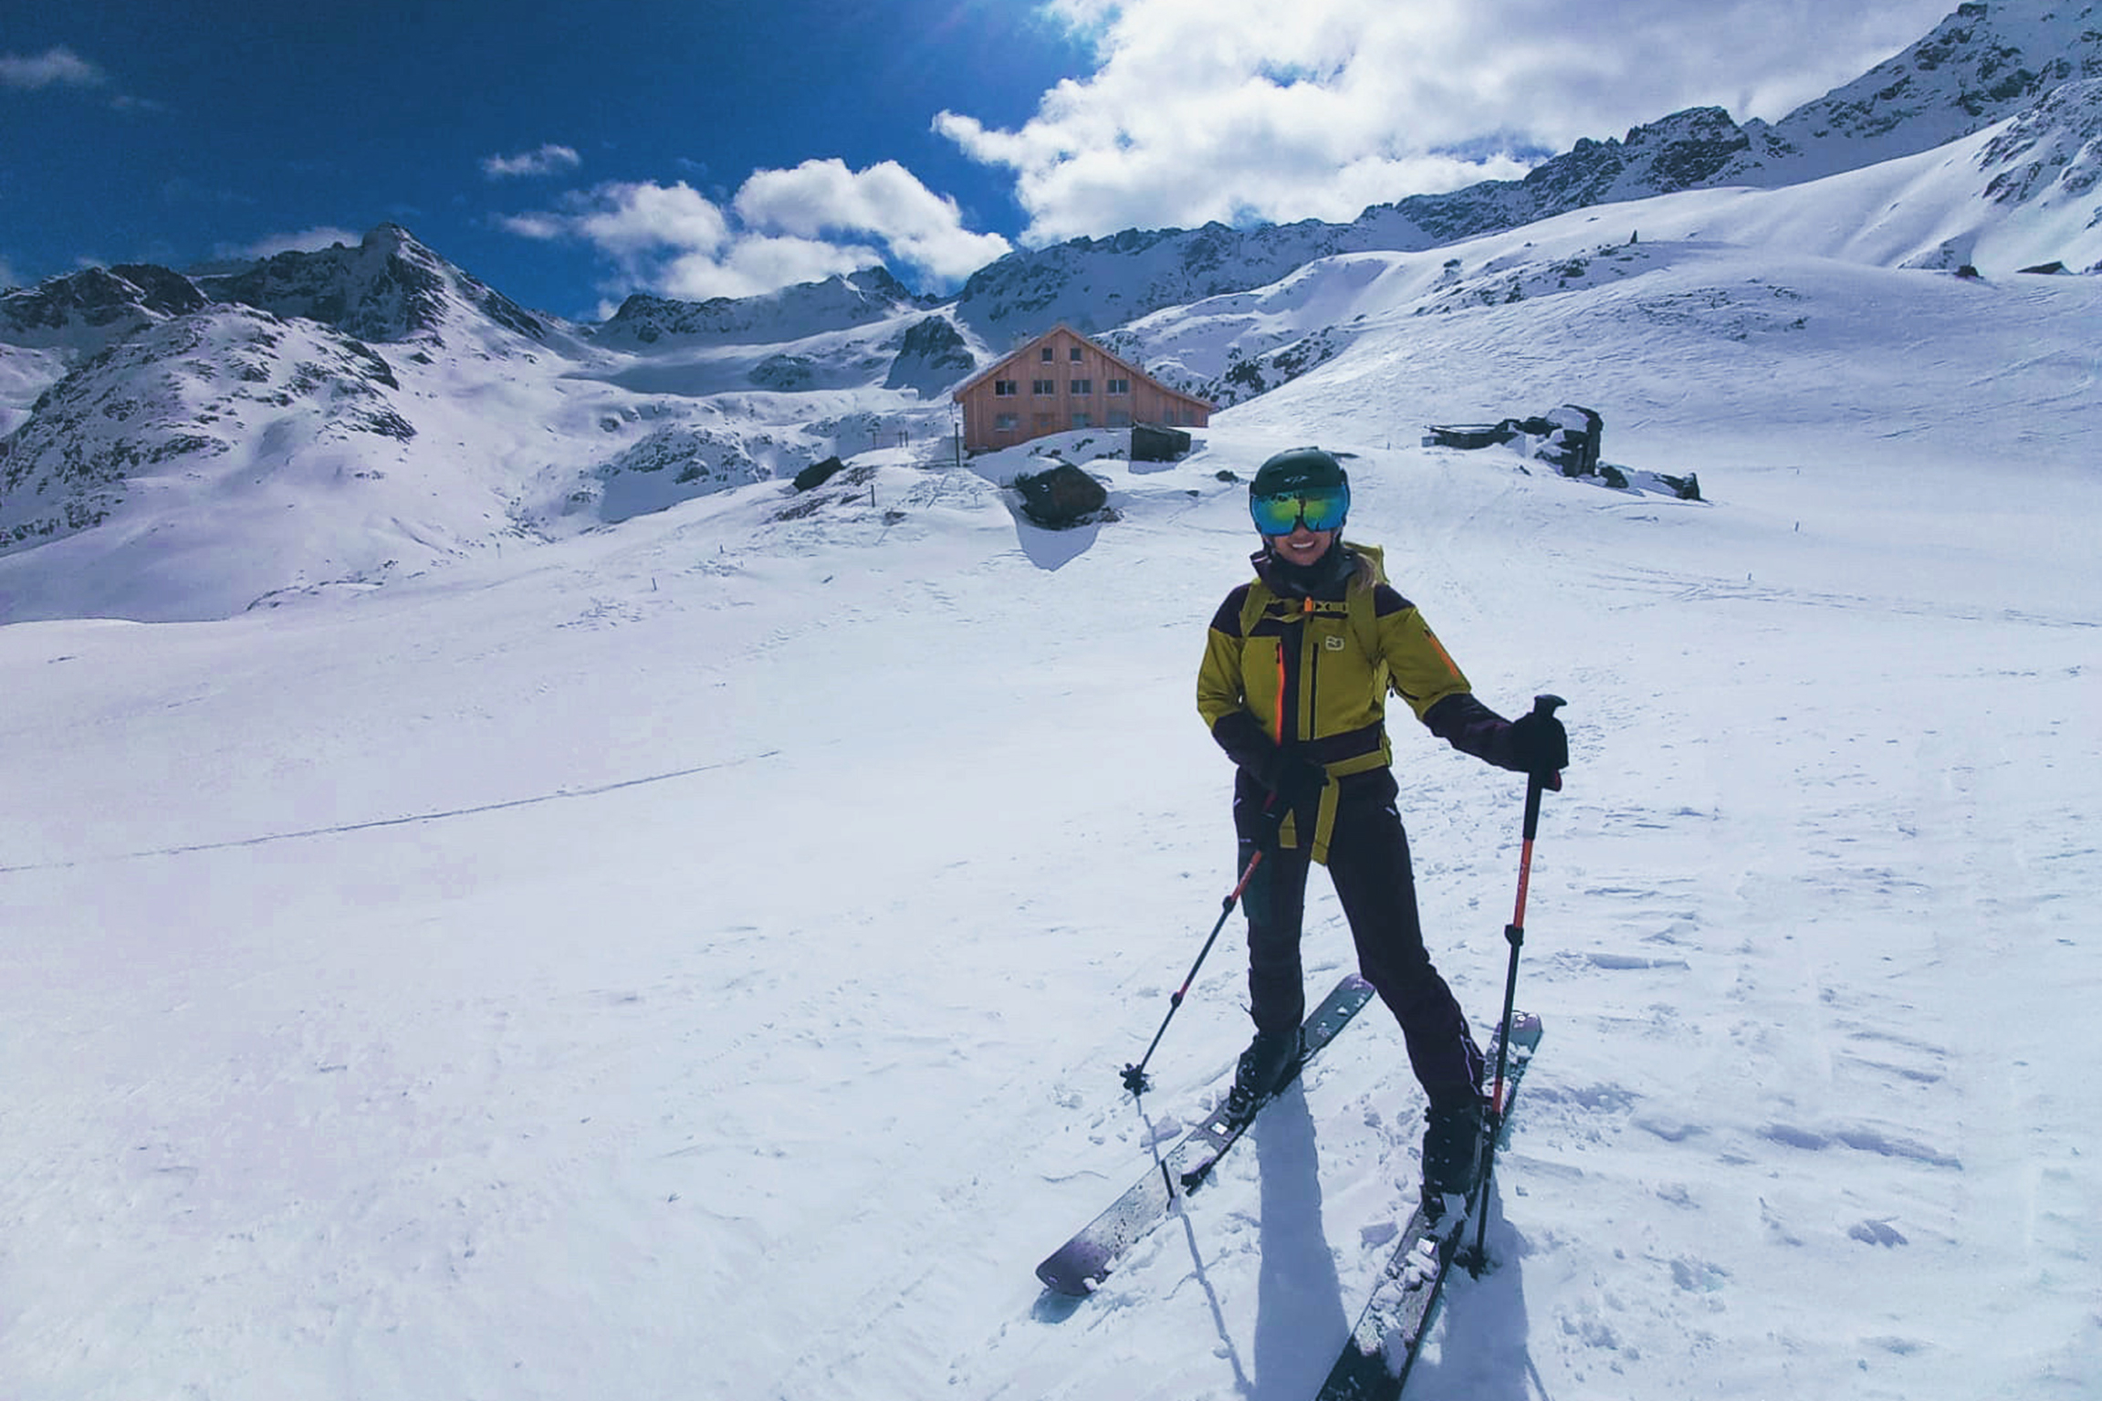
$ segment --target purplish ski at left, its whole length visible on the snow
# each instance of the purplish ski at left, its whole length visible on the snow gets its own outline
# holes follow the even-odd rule
[[[1234,1115],[1221,1105],[1202,1124],[1192,1128],[1181,1141],[1131,1185],[1110,1210],[1091,1220],[1087,1229],[1053,1250],[1036,1277],[1055,1294],[1093,1294],[1108,1275],[1116,1258],[1122,1256],[1141,1235],[1152,1231],[1186,1195],[1204,1185],[1211,1170],[1219,1166],[1225,1151],[1240,1141],[1263,1105],[1291,1086],[1305,1063],[1322,1046],[1335,1040],[1352,1017],[1373,998],[1373,985],[1356,973],[1345,975],[1320,1006],[1316,1006],[1299,1029],[1301,1052],[1284,1080],[1268,1096],[1255,1101],[1246,1113]]]

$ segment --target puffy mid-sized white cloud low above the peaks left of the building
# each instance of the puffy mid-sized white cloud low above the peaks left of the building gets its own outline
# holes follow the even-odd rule
[[[616,267],[607,292],[647,290],[706,300],[755,296],[887,263],[931,281],[956,281],[1009,252],[996,233],[971,233],[954,200],[904,166],[849,170],[813,160],[757,170],[729,202],[685,181],[605,183],[557,212],[513,214],[521,237],[576,237]]]

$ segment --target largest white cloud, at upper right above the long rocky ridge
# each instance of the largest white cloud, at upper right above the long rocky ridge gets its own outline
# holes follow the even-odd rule
[[[1408,193],[1516,179],[1518,151],[1619,137],[1682,107],[1778,118],[1923,36],[1946,0],[1043,8],[1095,46],[1095,71],[1053,86],[1015,130],[935,118],[973,160],[1013,170],[1032,244],[1211,218],[1356,218]]]

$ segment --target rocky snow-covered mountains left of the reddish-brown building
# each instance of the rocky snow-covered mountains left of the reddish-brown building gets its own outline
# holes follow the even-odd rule
[[[879,441],[933,452],[969,342],[881,271],[834,284],[635,309],[607,334],[380,225],[242,271],[11,296],[0,622],[221,618]]]

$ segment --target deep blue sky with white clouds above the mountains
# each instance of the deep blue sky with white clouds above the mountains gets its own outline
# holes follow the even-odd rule
[[[0,284],[355,242],[397,221],[572,317],[639,290],[736,296],[874,260],[950,290],[1015,246],[1347,221],[1696,103],[1772,120],[1955,0],[1843,8],[15,4]]]

